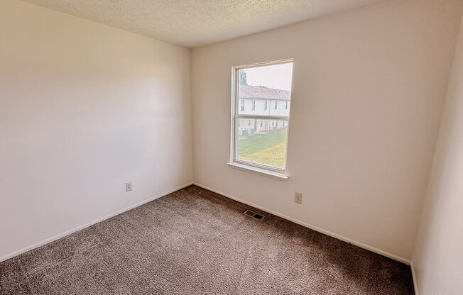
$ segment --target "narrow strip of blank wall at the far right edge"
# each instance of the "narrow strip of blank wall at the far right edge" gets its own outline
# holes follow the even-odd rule
[[[462,294],[463,23],[413,255],[420,295]]]

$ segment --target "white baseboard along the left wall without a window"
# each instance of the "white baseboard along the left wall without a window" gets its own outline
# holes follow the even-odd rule
[[[23,247],[22,249],[19,249],[19,250],[16,250],[16,251],[14,251],[14,252],[11,252],[11,253],[9,253],[9,254],[7,254],[7,255],[1,256],[1,257],[0,257],[0,262],[5,261],[5,260],[8,260],[8,259],[10,259],[10,258],[12,258],[12,257],[15,257],[16,255],[20,255],[20,254],[22,254],[22,253],[24,253],[24,252],[28,252],[29,250],[33,250],[33,249],[35,249],[36,247],[40,247],[40,246],[43,246],[43,245],[45,245],[45,244],[51,243],[51,242],[53,242],[54,240],[58,240],[58,239],[60,239],[60,238],[63,238],[63,237],[65,237],[66,235],[70,235],[71,233],[75,233],[76,231],[83,230],[84,228],[88,228],[89,226],[93,226],[95,223],[99,223],[99,222],[104,221],[104,220],[106,220],[106,219],[108,219],[108,218],[111,218],[111,217],[113,217],[113,216],[116,216],[116,215],[119,215],[119,214],[121,214],[121,213],[124,213],[125,211],[129,211],[129,210],[131,210],[131,209],[133,209],[133,208],[136,208],[136,207],[138,207],[138,206],[141,206],[141,205],[143,205],[143,204],[146,204],[146,203],[148,203],[148,202],[151,202],[151,201],[153,201],[153,200],[156,200],[156,199],[160,198],[161,196],[165,196],[165,195],[168,195],[168,194],[170,194],[170,193],[173,193],[174,191],[178,191],[179,189],[183,189],[184,187],[188,187],[188,186],[190,186],[191,184],[193,184],[193,183],[190,182],[190,183],[187,183],[187,184],[183,184],[182,186],[177,187],[177,188],[175,188],[175,189],[171,189],[170,191],[166,191],[166,192],[163,193],[163,194],[159,194],[158,196],[153,196],[153,198],[146,199],[146,200],[144,200],[144,201],[138,202],[138,203],[136,203],[136,204],[134,204],[134,205],[131,205],[131,206],[126,207],[126,208],[123,208],[123,209],[121,209],[121,210],[119,210],[119,211],[116,211],[116,212],[114,212],[114,213],[110,213],[110,214],[107,215],[107,216],[104,216],[104,217],[102,217],[102,218],[98,218],[98,219],[96,219],[96,220],[94,220],[94,221],[90,221],[89,223],[85,223],[85,224],[82,225],[82,226],[77,226],[77,228],[72,228],[71,230],[66,230],[66,231],[63,232],[63,233],[58,233],[58,235],[53,235],[53,237],[47,238],[47,239],[45,239],[45,240],[41,240],[40,242],[35,243],[35,244],[33,244],[33,245],[29,245],[29,246],[27,246],[27,247]]]

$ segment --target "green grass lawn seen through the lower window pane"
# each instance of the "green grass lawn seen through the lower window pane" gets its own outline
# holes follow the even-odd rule
[[[286,129],[250,135],[238,142],[238,158],[275,167],[285,167]]]

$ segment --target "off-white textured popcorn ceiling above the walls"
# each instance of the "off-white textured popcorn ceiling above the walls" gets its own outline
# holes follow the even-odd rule
[[[378,0],[24,0],[195,48]]]

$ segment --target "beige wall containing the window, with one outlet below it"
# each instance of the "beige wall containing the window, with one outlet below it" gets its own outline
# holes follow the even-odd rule
[[[195,182],[409,260],[461,11],[382,1],[192,50]],[[230,67],[290,57],[290,178],[231,169]]]

